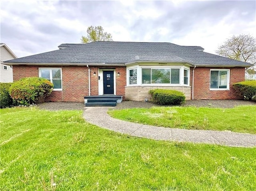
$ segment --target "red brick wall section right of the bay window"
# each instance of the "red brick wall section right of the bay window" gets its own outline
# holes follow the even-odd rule
[[[230,90],[229,91],[210,91],[210,69],[230,69]],[[192,70],[190,68],[190,85],[192,86]],[[194,69],[194,99],[240,99],[235,94],[232,87],[233,83],[244,81],[244,67],[234,68],[210,68],[196,67]],[[192,89],[191,89],[192,91]],[[191,92],[192,98],[192,92]]]

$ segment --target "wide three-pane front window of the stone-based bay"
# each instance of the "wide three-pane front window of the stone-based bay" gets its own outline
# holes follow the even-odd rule
[[[180,69],[142,68],[142,84],[179,84]]]

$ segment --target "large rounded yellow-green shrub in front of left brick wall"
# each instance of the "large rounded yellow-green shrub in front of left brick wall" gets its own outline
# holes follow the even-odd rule
[[[52,93],[53,84],[44,78],[28,77],[14,82],[10,87],[10,96],[18,104],[29,105],[44,102]]]

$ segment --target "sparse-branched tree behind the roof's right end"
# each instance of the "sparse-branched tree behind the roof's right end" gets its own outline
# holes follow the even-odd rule
[[[256,64],[256,38],[251,35],[233,35],[216,51],[218,55]]]

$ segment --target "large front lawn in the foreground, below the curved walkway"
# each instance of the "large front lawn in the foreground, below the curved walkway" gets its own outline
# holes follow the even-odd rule
[[[1,109],[0,190],[256,190],[256,148],[148,140],[82,111]]]

